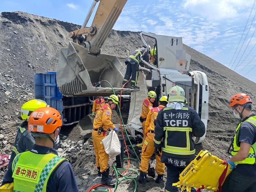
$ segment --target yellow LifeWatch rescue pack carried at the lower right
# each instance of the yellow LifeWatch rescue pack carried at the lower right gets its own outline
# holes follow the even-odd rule
[[[221,186],[230,174],[231,165],[213,156],[209,151],[200,151],[196,158],[180,173],[179,182],[172,186],[190,191],[191,187],[221,192]]]

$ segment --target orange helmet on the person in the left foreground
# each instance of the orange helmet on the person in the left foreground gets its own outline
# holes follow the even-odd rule
[[[28,131],[36,133],[53,133],[62,125],[59,111],[51,107],[36,109],[28,119]]]

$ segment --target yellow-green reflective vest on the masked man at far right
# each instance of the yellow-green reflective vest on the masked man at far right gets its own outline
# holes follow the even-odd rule
[[[256,127],[256,116],[251,116],[248,119],[246,119],[244,122],[249,122]],[[231,152],[232,156],[236,155],[238,153],[238,151],[240,150],[240,147],[238,147],[239,132],[240,132],[241,125],[244,122],[239,123],[239,125],[236,128],[236,135],[234,137],[234,142],[233,142],[233,151]],[[243,161],[236,161],[235,164],[255,164],[256,163],[255,151],[256,151],[256,142],[252,144],[252,146],[249,150],[248,157],[246,159],[244,159]]]

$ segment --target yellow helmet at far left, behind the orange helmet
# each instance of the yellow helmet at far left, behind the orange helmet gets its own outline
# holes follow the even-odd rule
[[[47,103],[40,99],[29,100],[24,103],[20,108],[20,116],[23,120],[28,120],[30,114],[38,108],[49,107]]]

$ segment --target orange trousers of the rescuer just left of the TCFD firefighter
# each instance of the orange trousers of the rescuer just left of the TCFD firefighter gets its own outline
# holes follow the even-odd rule
[[[150,157],[155,151],[154,147],[154,133],[148,132],[146,139],[142,146],[140,171],[148,173],[148,164]],[[162,153],[160,153],[162,155]],[[161,162],[161,157],[156,155],[156,173],[159,175],[164,174],[165,165]]]

